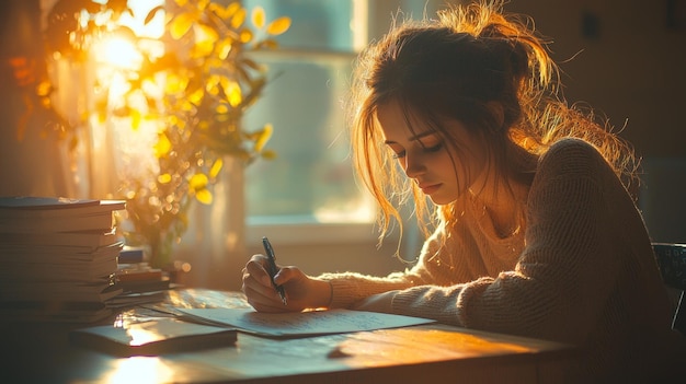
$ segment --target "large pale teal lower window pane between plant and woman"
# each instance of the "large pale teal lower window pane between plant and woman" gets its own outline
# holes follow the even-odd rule
[[[277,77],[244,123],[248,129],[274,125],[267,146],[277,158],[248,167],[248,216],[369,220],[370,203],[363,201],[354,183],[341,106],[350,60],[266,60],[266,65]],[[362,219],[356,217],[361,210]]]

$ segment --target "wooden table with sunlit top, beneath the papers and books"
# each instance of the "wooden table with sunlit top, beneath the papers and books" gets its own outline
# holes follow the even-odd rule
[[[168,301],[244,305],[238,293],[207,290]],[[69,330],[83,325],[0,326],[8,383],[556,383],[574,358],[564,345],[439,324],[285,340],[239,334],[233,347],[133,358],[71,345]]]

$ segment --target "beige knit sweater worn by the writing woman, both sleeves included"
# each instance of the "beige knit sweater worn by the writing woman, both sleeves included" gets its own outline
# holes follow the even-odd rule
[[[495,234],[482,206],[462,206],[405,272],[320,276],[332,283],[332,306],[398,290],[398,314],[573,344],[584,358],[572,381],[633,380],[647,357],[661,361],[681,339],[642,218],[590,144],[564,139],[540,159],[526,226],[511,237]]]

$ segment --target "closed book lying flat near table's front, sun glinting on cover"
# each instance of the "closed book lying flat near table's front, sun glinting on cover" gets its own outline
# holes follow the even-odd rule
[[[126,326],[103,325],[75,329],[71,342],[118,357],[157,356],[233,346],[237,331],[161,317]]]

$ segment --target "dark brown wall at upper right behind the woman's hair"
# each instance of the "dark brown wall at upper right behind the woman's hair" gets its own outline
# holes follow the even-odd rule
[[[679,10],[670,13],[671,2]],[[686,2],[513,0],[506,8],[553,38],[570,102],[626,124],[621,136],[644,159],[639,206],[653,240],[686,242]],[[668,16],[681,25],[670,27]]]

